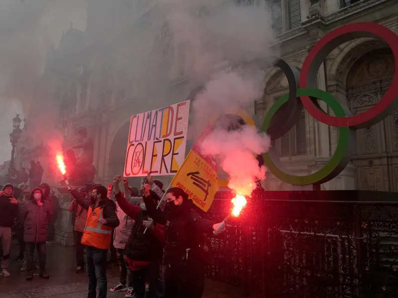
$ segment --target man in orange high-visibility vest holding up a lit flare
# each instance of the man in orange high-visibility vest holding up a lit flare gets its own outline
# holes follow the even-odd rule
[[[99,185],[94,188],[90,199],[69,185],[72,196],[88,210],[87,222],[83,231],[82,244],[86,245],[86,266],[89,277],[87,298],[106,298],[106,255],[110,247],[112,228],[119,225],[115,203],[107,198],[107,190]]]

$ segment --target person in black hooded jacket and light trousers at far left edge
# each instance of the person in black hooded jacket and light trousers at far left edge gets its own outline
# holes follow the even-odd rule
[[[12,184],[6,184],[0,192],[0,243],[2,247],[0,276],[3,277],[10,276],[7,269],[12,242],[11,227],[18,214],[18,201],[13,197],[13,192]]]

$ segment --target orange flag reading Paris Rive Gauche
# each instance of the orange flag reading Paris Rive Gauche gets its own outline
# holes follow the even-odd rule
[[[213,156],[202,156],[199,150],[200,141],[209,132],[208,127],[201,134],[171,182],[172,187],[182,188],[194,204],[204,212],[210,208],[218,191],[216,160]]]

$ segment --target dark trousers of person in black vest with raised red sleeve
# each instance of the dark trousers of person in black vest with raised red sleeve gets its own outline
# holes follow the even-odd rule
[[[153,262],[140,270],[134,270],[133,288],[137,298],[156,298],[156,282],[159,275],[159,262]]]

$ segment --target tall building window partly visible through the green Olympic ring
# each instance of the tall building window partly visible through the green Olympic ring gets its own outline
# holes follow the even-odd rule
[[[279,141],[280,156],[305,155],[305,114],[304,111],[298,118],[297,124]]]

